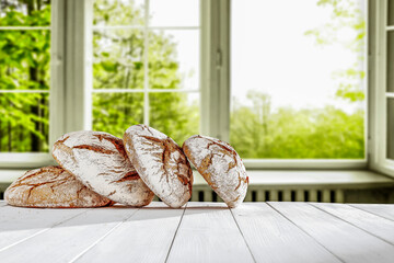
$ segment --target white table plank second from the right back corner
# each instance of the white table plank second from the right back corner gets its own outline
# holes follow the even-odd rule
[[[394,221],[392,220],[341,204],[312,205],[394,244]]]

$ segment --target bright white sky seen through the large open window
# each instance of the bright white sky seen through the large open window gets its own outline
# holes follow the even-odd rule
[[[305,32],[331,20],[331,10],[316,0],[232,1],[232,96],[251,105],[248,90],[271,95],[273,106],[293,108],[335,105],[351,112],[355,106],[335,100],[333,72],[351,67],[357,54],[339,46],[318,46]],[[340,37],[351,38],[354,32]],[[360,83],[362,84],[362,83]]]

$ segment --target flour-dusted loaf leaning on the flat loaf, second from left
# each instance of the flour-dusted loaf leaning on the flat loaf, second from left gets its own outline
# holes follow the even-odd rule
[[[123,140],[106,133],[81,130],[60,137],[53,156],[94,192],[124,205],[146,206],[154,194],[128,159]]]

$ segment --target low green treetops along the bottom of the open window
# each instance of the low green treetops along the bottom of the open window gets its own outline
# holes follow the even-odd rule
[[[230,140],[242,158],[363,158],[363,111],[347,114],[325,106],[271,112],[269,96],[260,98],[231,115]]]

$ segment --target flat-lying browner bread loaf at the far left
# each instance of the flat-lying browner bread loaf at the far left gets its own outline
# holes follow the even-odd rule
[[[25,207],[99,207],[113,202],[84,186],[60,167],[27,171],[4,193],[9,205]]]

